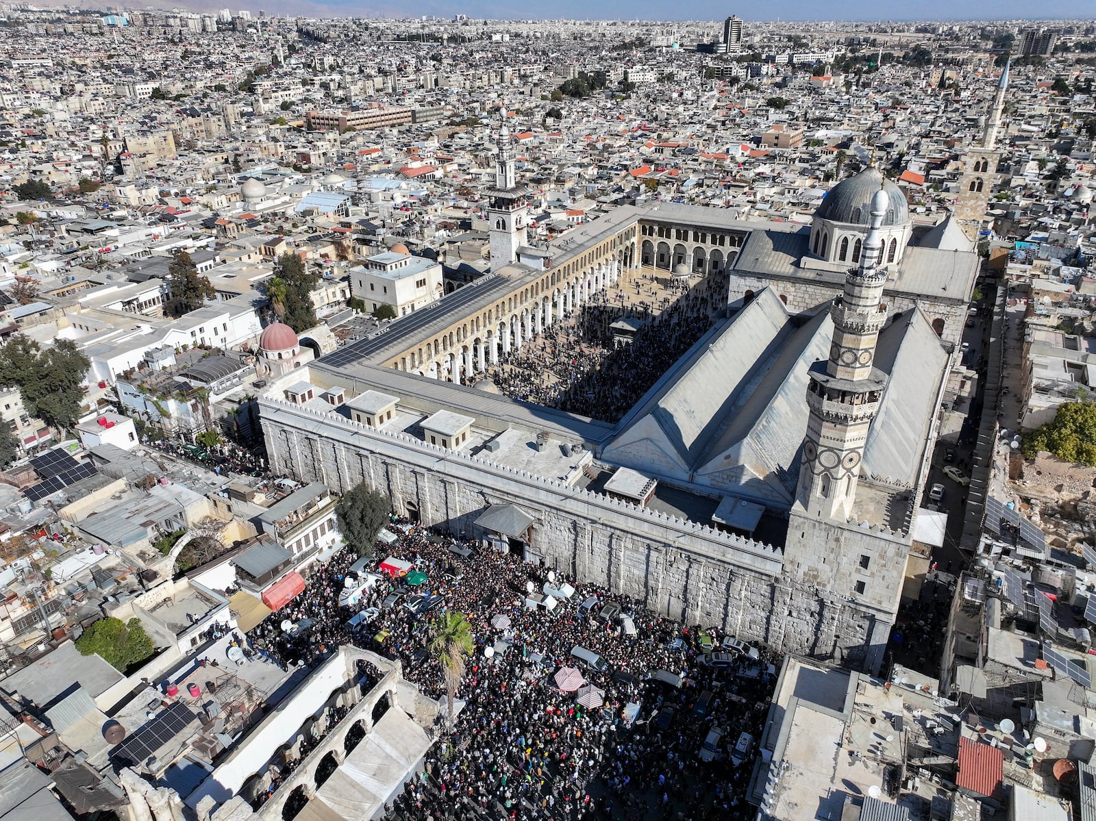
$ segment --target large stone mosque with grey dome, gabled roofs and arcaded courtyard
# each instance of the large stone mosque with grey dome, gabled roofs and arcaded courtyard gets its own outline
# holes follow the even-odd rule
[[[505,126],[499,139],[492,273],[274,374],[259,400],[273,468],[339,492],[368,482],[401,514],[683,624],[878,672],[918,572],[972,240],[950,218],[914,226],[868,168],[809,227],[659,203],[533,248]],[[643,266],[730,286],[618,422],[460,385]]]

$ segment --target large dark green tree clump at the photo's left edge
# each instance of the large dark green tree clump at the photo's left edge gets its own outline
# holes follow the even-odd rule
[[[81,387],[91,363],[71,340],[43,351],[16,333],[0,347],[0,383],[19,388],[26,412],[62,431],[71,431],[83,404]]]

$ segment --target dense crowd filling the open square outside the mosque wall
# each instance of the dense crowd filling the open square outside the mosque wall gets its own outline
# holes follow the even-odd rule
[[[745,800],[753,756],[734,763],[729,751],[742,731],[760,738],[775,658],[764,651],[760,661],[735,657],[732,666],[717,670],[704,663],[698,639],[707,634],[718,649],[718,630],[674,623],[591,584],[575,584],[573,595],[553,611],[530,609],[527,585],[540,589],[548,580],[543,569],[410,523],[393,522],[391,529],[399,540],[386,550],[414,562],[444,607],[465,614],[476,648],[457,693],[463,707],[455,728],[449,734],[439,719],[425,769],[387,808],[389,821],[684,821],[756,813]],[[448,548],[456,544],[476,552],[455,555]],[[439,663],[423,652],[432,616],[414,616],[402,606],[406,598],[384,606],[390,593],[412,592],[399,579],[377,584],[352,609],[339,606],[356,558],[344,549],[319,567],[305,593],[251,631],[253,646],[275,663],[312,664],[353,642],[402,660],[408,680],[442,697]],[[377,562],[383,558],[378,555]],[[591,597],[597,603],[580,606]],[[606,603],[631,616],[635,635],[625,632],[619,618],[598,618]],[[367,608],[377,615],[352,631],[347,622]],[[282,629],[285,619],[311,624],[290,635]],[[574,692],[556,686],[557,671],[576,664],[570,655],[575,645],[609,662],[604,673],[582,670],[602,691],[601,706],[584,707]],[[648,680],[657,670],[680,674],[682,686]],[[715,698],[700,710],[705,691]],[[629,704],[638,710],[628,710]],[[704,762],[700,745],[717,726],[723,738],[715,760]]]

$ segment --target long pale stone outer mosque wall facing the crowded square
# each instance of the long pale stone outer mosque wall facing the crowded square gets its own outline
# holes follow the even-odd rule
[[[489,505],[517,504],[535,520],[529,549],[546,567],[685,624],[859,662],[880,635],[886,641],[879,625],[893,622],[893,609],[786,573],[780,550],[747,538],[281,399],[264,396],[260,408],[275,471],[339,492],[364,481],[399,513],[475,535],[484,535],[475,522]]]

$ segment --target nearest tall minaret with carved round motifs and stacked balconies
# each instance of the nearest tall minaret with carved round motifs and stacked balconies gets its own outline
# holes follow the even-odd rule
[[[807,515],[847,521],[853,514],[860,457],[879,411],[887,375],[874,366],[887,274],[879,270],[882,227],[889,199],[880,186],[871,197],[871,221],[860,266],[845,276],[845,293],[830,306],[830,360],[811,366],[807,387],[810,417],[796,501]]]

